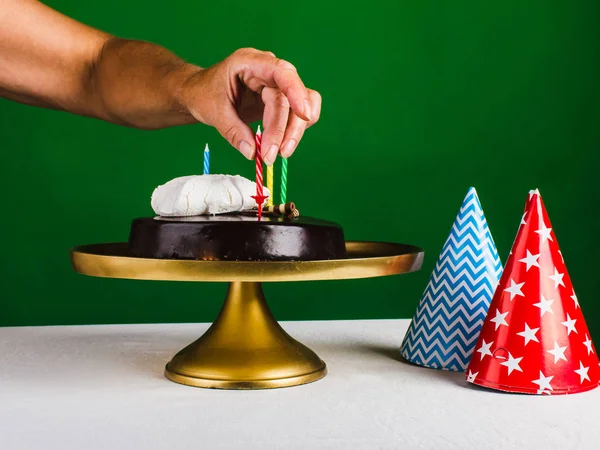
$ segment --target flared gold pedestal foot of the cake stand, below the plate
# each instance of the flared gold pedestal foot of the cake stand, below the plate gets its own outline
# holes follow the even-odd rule
[[[277,323],[259,282],[234,281],[204,335],[167,364],[176,383],[214,389],[297,386],[327,374],[325,363]]]

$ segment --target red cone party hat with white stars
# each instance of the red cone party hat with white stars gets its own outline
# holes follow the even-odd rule
[[[598,387],[598,364],[544,202],[531,191],[467,381],[507,392],[573,394]]]

